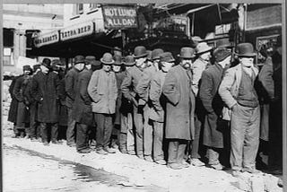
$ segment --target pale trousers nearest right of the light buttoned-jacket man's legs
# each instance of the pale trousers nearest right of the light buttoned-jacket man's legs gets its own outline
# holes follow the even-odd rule
[[[121,114],[119,149],[135,152],[135,134],[132,113]]]

